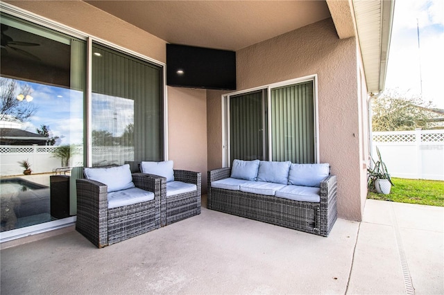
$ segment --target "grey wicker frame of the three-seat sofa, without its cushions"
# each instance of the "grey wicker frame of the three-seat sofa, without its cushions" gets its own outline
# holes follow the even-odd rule
[[[336,222],[335,175],[321,181],[319,203],[211,187],[212,181],[230,175],[231,168],[208,171],[207,208],[325,237]]]

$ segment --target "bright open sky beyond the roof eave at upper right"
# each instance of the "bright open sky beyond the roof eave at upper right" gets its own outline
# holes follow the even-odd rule
[[[444,109],[443,84],[444,0],[395,0],[386,91]]]

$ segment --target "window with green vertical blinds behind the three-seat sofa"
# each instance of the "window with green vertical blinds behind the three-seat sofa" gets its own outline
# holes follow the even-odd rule
[[[315,77],[226,96],[225,159],[315,163],[314,85]]]

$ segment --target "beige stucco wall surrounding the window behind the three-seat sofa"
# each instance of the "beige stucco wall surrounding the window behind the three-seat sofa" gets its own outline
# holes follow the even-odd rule
[[[244,48],[236,57],[238,90],[318,75],[320,161],[330,163],[338,177],[339,217],[361,220],[364,170],[356,39],[340,40],[332,19],[325,19]],[[209,95],[207,109],[214,116],[208,122],[209,150],[212,145],[216,151],[208,153],[210,168],[221,163],[221,121],[216,121],[221,96]]]

